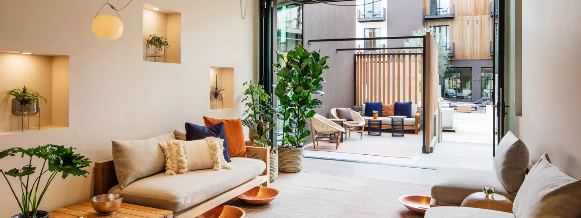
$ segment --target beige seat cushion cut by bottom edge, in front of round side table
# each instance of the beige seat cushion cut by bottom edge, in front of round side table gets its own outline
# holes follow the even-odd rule
[[[425,218],[515,218],[512,213],[459,206],[436,206],[426,211]]]

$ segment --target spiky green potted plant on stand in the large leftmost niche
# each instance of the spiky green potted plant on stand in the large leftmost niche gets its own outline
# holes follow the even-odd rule
[[[14,116],[34,116],[40,111],[39,100],[43,100],[46,105],[46,98],[38,94],[37,91],[23,85],[13,90],[7,91],[5,100],[10,96],[12,99],[12,114]]]

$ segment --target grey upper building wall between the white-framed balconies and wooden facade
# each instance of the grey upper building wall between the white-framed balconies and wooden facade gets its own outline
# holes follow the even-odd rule
[[[386,36],[413,35],[424,24],[424,2],[422,0],[388,1]],[[406,40],[388,40],[388,47],[403,47]]]

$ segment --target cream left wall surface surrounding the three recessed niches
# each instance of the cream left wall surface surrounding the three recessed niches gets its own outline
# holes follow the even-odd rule
[[[234,67],[235,96],[241,95],[243,81],[256,80],[257,0],[249,2],[246,20],[240,17],[237,0],[134,0],[119,12],[124,33],[117,40],[103,40],[91,31],[103,2],[0,0],[0,51],[70,55],[69,127],[0,135],[0,149],[52,143],[74,146],[99,161],[111,158],[110,140],[138,140],[184,130],[187,121],[203,124],[202,116],[241,116],[239,101],[232,110],[210,112],[208,69]],[[125,2],[112,1],[116,6]],[[144,3],[181,12],[181,64],[143,61]],[[114,14],[107,7],[101,13]],[[20,168],[25,162],[18,157],[2,159],[0,168]],[[33,161],[33,165],[41,164]],[[87,180],[55,178],[41,209],[88,199],[93,185],[92,168],[88,170]],[[0,217],[18,213],[5,181],[0,182],[0,190]]]

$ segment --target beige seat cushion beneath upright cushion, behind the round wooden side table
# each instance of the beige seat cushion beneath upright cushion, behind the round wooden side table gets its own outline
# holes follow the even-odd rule
[[[494,186],[496,194],[514,199],[514,195],[504,189],[494,171],[467,168],[440,167],[436,170],[432,186],[432,198],[451,205],[460,205],[475,192],[481,192],[483,185]]]

